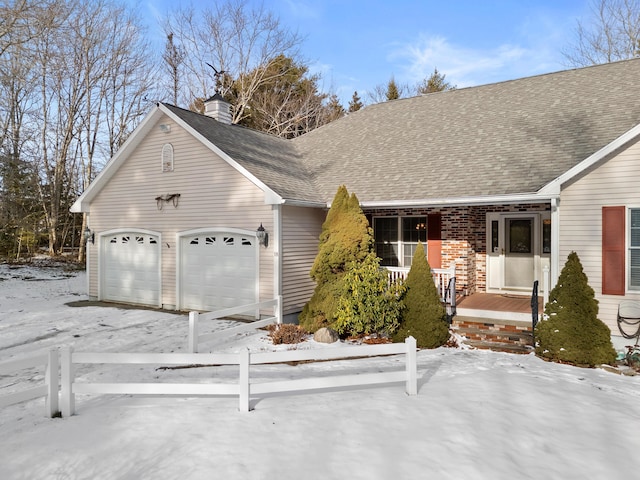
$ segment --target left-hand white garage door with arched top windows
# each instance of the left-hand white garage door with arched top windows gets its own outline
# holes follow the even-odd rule
[[[160,240],[157,235],[125,232],[102,238],[102,298],[160,305]]]

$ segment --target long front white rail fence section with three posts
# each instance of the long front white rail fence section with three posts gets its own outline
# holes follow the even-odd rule
[[[299,362],[309,360],[336,360],[352,357],[371,357],[379,355],[405,354],[405,369],[393,372],[369,374],[334,375],[322,378],[304,378],[276,382],[252,383],[250,366]],[[89,383],[76,382],[74,371],[78,364],[136,364],[136,365],[238,365],[237,383]],[[252,395],[265,395],[277,392],[293,392],[324,388],[339,388],[357,385],[375,385],[404,382],[406,392],[416,395],[417,363],[416,340],[413,337],[405,343],[383,345],[360,345],[331,349],[287,350],[281,352],[251,353],[248,349],[240,353],[81,353],[71,348],[62,349],[62,415],[75,412],[76,394],[128,394],[128,395],[237,395],[239,410],[250,409]]]

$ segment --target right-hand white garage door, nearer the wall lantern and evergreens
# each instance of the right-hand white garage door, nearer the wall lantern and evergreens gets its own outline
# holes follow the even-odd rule
[[[212,311],[257,302],[256,237],[207,232],[180,240],[180,307]]]

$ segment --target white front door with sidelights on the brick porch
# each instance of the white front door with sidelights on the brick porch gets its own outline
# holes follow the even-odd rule
[[[487,216],[487,291],[530,292],[548,264],[547,212]]]

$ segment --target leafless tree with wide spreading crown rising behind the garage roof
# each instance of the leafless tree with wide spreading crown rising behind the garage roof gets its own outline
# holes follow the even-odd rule
[[[234,88],[233,123],[247,118],[251,100],[261,86],[286,75],[271,68],[279,55],[297,59],[301,37],[283,27],[264,6],[253,7],[246,0],[226,0],[197,15],[192,8],[174,12],[165,25],[174,33],[186,53],[185,105],[213,93],[216,72],[225,72],[219,85],[226,96]],[[277,72],[277,73],[274,73]]]

